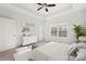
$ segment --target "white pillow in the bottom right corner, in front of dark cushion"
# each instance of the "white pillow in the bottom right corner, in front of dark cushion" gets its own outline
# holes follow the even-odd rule
[[[86,49],[79,49],[75,61],[86,61]]]

